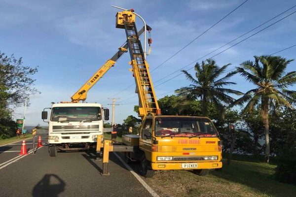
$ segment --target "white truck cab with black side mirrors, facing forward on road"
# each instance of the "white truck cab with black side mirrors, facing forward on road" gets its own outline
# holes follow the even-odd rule
[[[51,109],[47,119],[47,111]],[[98,103],[54,103],[44,108],[42,119],[48,122],[49,155],[57,151],[95,148],[98,135],[103,135],[103,121],[109,120],[109,109]]]

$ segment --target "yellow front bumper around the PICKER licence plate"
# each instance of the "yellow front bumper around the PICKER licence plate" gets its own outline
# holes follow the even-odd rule
[[[197,168],[182,168],[182,164],[193,163],[197,164]],[[151,163],[153,170],[170,170],[170,169],[215,169],[222,168],[222,162],[182,162],[182,163]]]

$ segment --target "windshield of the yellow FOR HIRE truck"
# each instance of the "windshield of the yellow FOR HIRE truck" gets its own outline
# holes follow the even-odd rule
[[[216,137],[218,134],[207,118],[156,117],[155,136]]]

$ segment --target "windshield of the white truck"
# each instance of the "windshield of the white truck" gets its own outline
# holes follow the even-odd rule
[[[100,107],[53,107],[51,121],[75,122],[101,120]]]

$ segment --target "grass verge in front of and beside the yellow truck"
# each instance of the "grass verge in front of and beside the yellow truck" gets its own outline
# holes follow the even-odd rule
[[[161,197],[289,197],[296,186],[273,179],[276,165],[247,161],[232,161],[222,170],[212,170],[208,176],[191,171],[157,171],[146,179]]]

